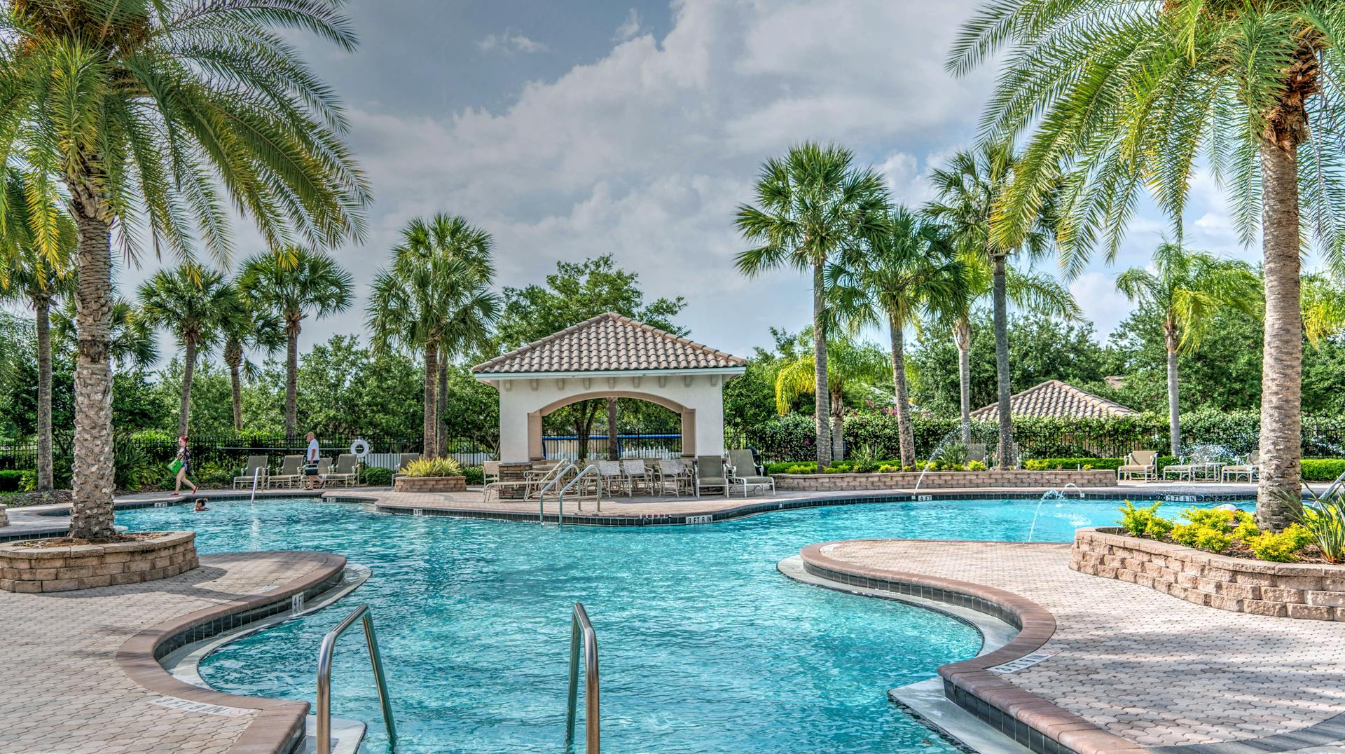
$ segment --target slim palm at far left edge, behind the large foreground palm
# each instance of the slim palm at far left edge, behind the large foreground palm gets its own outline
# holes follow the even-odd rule
[[[62,210],[52,211],[61,199],[55,195],[42,197],[42,202],[52,206],[30,210],[28,176],[17,168],[4,172],[5,194],[3,238],[0,245],[9,264],[0,269],[0,299],[23,302],[32,307],[36,319],[38,349],[38,469],[36,490],[52,487],[51,470],[51,306],[74,291],[75,269],[70,250],[75,245],[75,228],[70,215]],[[55,218],[56,249],[46,254],[36,245],[39,219]]]

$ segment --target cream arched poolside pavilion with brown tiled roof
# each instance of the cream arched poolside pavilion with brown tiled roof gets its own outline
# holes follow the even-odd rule
[[[639,399],[682,417],[682,455],[724,452],[724,382],[746,361],[613,312],[472,368],[500,400],[503,463],[541,460],[542,417],[589,399]]]

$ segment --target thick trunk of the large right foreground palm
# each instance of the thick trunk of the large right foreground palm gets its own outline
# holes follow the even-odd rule
[[[1305,116],[1306,123],[1306,116]],[[1276,143],[1278,141],[1278,143]],[[1289,147],[1284,147],[1284,143]],[[1262,253],[1266,277],[1266,334],[1262,347],[1260,485],[1256,522],[1283,529],[1302,483],[1303,315],[1299,300],[1298,147],[1291,135],[1262,143]]]

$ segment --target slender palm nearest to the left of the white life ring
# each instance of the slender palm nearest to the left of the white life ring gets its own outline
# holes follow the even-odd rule
[[[285,436],[299,428],[299,334],[304,319],[346,311],[355,283],[336,260],[309,249],[289,246],[262,252],[243,263],[238,289],[257,311],[269,311],[285,323]]]

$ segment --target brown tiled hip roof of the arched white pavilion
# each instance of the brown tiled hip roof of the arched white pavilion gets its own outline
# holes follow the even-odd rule
[[[477,364],[472,372],[527,374],[732,366],[746,366],[746,361],[609,311]]]

